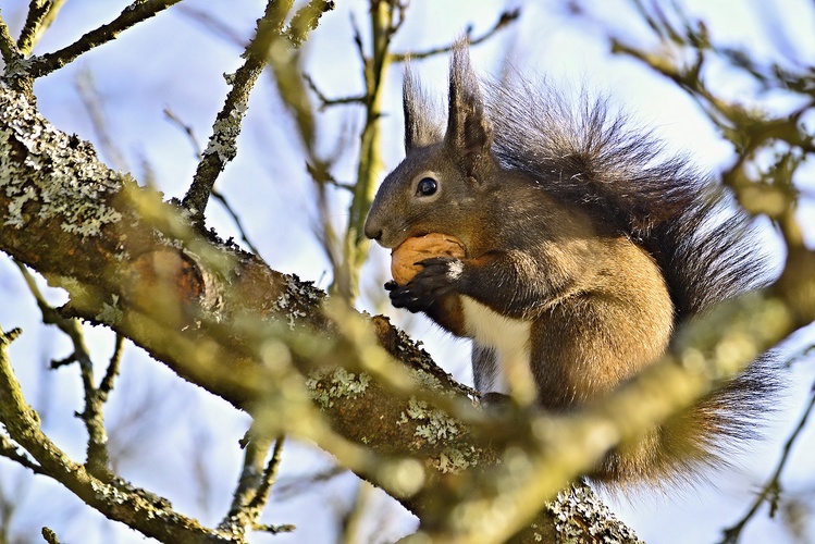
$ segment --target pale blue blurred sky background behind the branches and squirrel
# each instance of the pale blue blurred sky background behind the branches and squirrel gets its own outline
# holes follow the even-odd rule
[[[655,2],[654,5],[674,2]],[[679,0],[691,17],[704,21],[712,40],[748,51],[762,62],[794,67],[815,65],[815,8],[805,0]],[[127,2],[66,2],[35,53],[57,50],[84,33],[114,18]],[[35,85],[41,113],[58,128],[90,140],[112,168],[131,172],[166,198],[183,197],[198,159],[193,139],[206,146],[227,86],[224,74],[242,63],[239,54],[251,38],[266,2],[186,0],[123,33],[115,41],[84,54]],[[0,0],[0,9],[16,36],[27,12],[24,0]],[[394,37],[394,51],[425,51],[449,45],[468,27],[474,36],[487,32],[506,9],[520,17],[472,48],[477,71],[499,77],[511,65],[530,78],[545,77],[556,87],[605,94],[643,126],[653,127],[670,150],[686,152],[704,171],[726,169],[733,148],[700,106],[669,79],[627,55],[612,54],[610,37],[645,49],[658,49],[637,2],[625,0],[515,1],[412,0]],[[337,2],[323,15],[302,50],[302,67],[329,98],[363,91],[362,65],[354,41],[355,26],[363,45],[370,41],[369,2]],[[447,57],[413,63],[425,87],[446,91]],[[329,213],[318,207],[316,184],[306,169],[296,129],[277,96],[269,71],[252,92],[238,140],[237,158],[220,176],[217,189],[243,223],[219,202],[207,211],[208,225],[223,238],[250,240],[275,270],[296,273],[321,288],[332,282],[332,267],[318,233],[330,220],[343,232],[349,195],[326,194]],[[704,74],[708,87],[745,108],[785,114],[800,97],[756,86],[726,62],[711,62]],[[384,170],[404,154],[400,104],[402,67],[387,73],[382,126]],[[316,106],[317,95],[311,96]],[[353,183],[359,154],[362,109],[331,107],[317,114],[321,157],[333,160],[331,174]],[[810,126],[815,120],[808,119]],[[815,246],[815,176],[804,164],[795,183],[802,193],[799,218],[807,244]],[[766,250],[783,258],[771,226],[765,228]],[[362,269],[358,308],[386,313],[405,327],[448,372],[470,383],[469,347],[429,321],[390,308],[382,284],[387,277],[386,251],[371,247]],[[53,305],[64,294],[39,281]],[[82,409],[82,383],[75,367],[49,370],[52,359],[71,347],[41,316],[20,269],[0,255],[0,326],[23,329],[11,348],[12,360],[28,401],[39,411],[45,431],[70,455],[83,459],[85,428],[74,412]],[[113,335],[85,327],[95,361],[103,364],[113,351]],[[815,341],[812,330],[799,332],[786,346],[795,353]],[[733,466],[709,474],[695,489],[635,496],[604,497],[640,537],[652,543],[717,542],[723,528],[748,510],[782,453],[782,446],[807,404],[815,380],[810,359],[795,362],[790,386],[771,416],[767,440],[756,444]],[[122,375],[106,409],[113,468],[134,484],[170,498],[182,512],[215,524],[229,509],[243,453],[238,441],[248,416],[178,379],[133,345],[125,349]],[[791,452],[781,484],[778,511],[769,518],[764,506],[746,528],[743,542],[815,541],[815,430],[803,431]],[[416,519],[384,493],[361,484],[338,469],[332,458],[308,444],[288,442],[279,483],[263,515],[269,523],[292,523],[291,534],[255,534],[251,542],[385,543],[407,534]],[[49,479],[35,477],[0,458],[0,542],[39,541],[40,529],[52,528],[66,543],[143,542],[145,537],[109,521]]]

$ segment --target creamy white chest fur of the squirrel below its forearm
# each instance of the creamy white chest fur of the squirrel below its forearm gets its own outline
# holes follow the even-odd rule
[[[532,403],[535,386],[530,370],[531,323],[504,317],[473,300],[461,297],[467,335],[495,353],[492,375],[481,376],[484,392],[511,394],[521,403]]]

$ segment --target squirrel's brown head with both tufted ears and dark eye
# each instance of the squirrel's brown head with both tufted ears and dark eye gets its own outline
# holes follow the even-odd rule
[[[467,44],[459,41],[449,71],[447,131],[442,134],[421,89],[405,75],[405,160],[385,177],[371,205],[365,234],[383,247],[429,233],[458,237],[469,247],[483,225],[483,196],[494,190],[498,166]]]

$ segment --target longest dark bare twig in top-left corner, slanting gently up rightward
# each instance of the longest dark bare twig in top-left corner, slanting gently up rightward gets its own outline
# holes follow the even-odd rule
[[[181,0],[136,0],[108,24],[100,26],[67,47],[32,59],[28,75],[37,78],[61,69],[74,59],[119,36],[123,30],[157,15]]]

